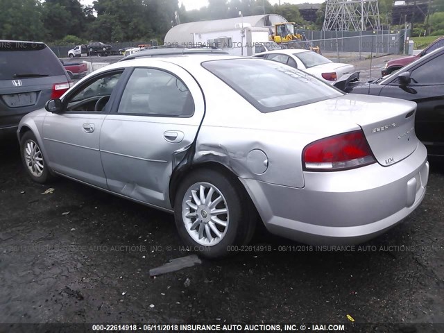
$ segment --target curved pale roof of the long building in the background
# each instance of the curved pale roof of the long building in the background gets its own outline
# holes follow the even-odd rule
[[[237,24],[239,24],[239,26],[244,24],[244,26],[264,27],[273,26],[273,24],[280,22],[287,22],[287,19],[277,14],[266,14],[178,24],[168,31],[164,44],[194,43],[194,33],[233,30]]]

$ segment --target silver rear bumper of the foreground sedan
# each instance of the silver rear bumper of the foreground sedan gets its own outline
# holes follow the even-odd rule
[[[427,150],[390,167],[305,172],[297,189],[241,178],[266,228],[306,244],[359,244],[400,223],[420,205],[429,176]]]

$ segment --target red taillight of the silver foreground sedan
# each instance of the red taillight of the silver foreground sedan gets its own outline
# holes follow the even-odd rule
[[[375,162],[362,130],[326,137],[302,152],[302,165],[307,171],[338,171]]]

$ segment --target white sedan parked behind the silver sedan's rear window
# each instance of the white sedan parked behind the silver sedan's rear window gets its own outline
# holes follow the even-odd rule
[[[267,51],[257,53],[255,57],[282,62],[282,64],[306,71],[331,85],[355,73],[355,66],[332,62],[332,60],[321,56],[321,54],[309,50],[286,49]]]

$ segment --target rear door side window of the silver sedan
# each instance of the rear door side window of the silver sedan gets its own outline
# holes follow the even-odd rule
[[[191,117],[191,92],[177,76],[152,68],[136,68],[123,92],[119,110],[123,114]]]

